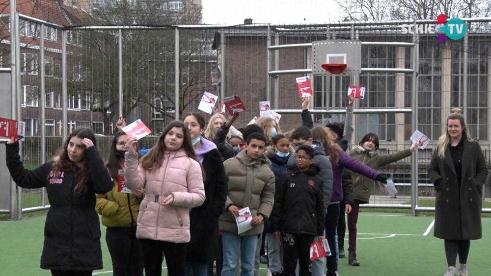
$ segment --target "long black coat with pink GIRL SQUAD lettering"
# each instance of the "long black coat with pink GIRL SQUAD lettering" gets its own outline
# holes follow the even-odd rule
[[[20,187],[46,187],[51,207],[44,226],[44,247],[41,268],[53,270],[90,271],[103,269],[101,226],[95,210],[95,194],[112,190],[108,169],[94,146],[84,151],[91,179],[81,193],[74,192],[80,182],[80,169],[50,176],[54,161],[33,171],[24,168],[19,156],[19,143],[6,145],[7,168]]]

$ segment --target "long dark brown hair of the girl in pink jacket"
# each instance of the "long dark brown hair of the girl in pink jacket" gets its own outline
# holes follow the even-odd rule
[[[164,151],[165,151],[165,135],[173,128],[179,127],[184,132],[184,140],[183,140],[183,149],[188,155],[189,158],[199,163],[198,157],[196,157],[196,152],[194,152],[194,148],[191,143],[191,135],[189,134],[189,128],[184,125],[181,121],[172,121],[170,124],[165,126],[164,131],[159,137],[159,141],[155,144],[155,146],[150,150],[145,156],[143,156],[140,160],[141,167],[146,171],[157,170],[164,160]],[[203,170],[203,166],[201,166],[201,172],[203,173],[203,181],[205,179],[205,171]]]

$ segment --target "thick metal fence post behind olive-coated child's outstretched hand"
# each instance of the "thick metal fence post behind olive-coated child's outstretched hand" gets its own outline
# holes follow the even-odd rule
[[[412,48],[412,132],[418,128],[418,62],[419,62],[419,35],[413,34],[414,47]],[[416,206],[418,205],[418,151],[413,151],[411,157],[411,215],[416,216]]]

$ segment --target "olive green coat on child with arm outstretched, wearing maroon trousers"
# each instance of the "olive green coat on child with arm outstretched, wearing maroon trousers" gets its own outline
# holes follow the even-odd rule
[[[393,154],[380,155],[379,151],[364,151],[357,146],[350,151],[350,156],[378,171],[380,167],[411,156],[411,153],[412,152],[408,149]],[[355,200],[368,203],[370,201],[370,195],[372,194],[373,180],[355,172],[351,172],[351,176],[353,177],[353,193],[355,195]]]

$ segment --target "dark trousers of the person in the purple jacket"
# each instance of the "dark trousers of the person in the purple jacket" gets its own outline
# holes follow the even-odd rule
[[[326,239],[331,250],[331,255],[326,258],[326,276],[335,276],[337,270],[336,261],[336,228],[339,221],[339,203],[329,204],[326,215]]]

